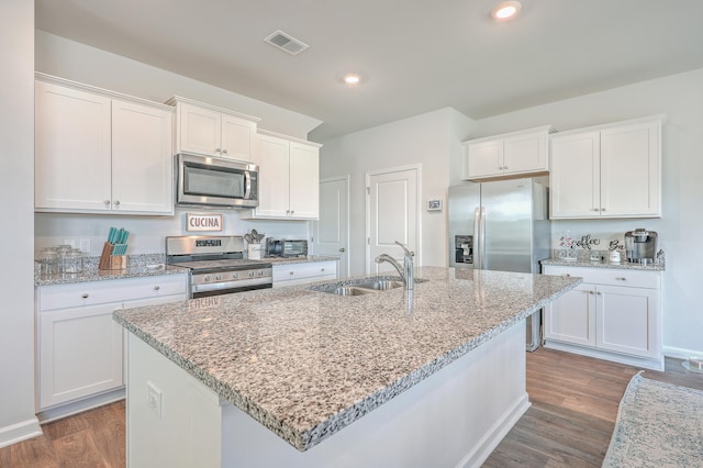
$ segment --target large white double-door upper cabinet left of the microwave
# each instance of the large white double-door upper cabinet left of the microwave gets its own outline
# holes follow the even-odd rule
[[[37,74],[35,210],[172,214],[172,108]]]

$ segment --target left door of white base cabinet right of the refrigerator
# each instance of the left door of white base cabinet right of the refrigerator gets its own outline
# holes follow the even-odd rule
[[[545,338],[595,346],[595,289],[581,285],[545,308]]]

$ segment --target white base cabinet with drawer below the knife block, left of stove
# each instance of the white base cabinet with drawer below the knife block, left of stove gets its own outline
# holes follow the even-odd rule
[[[123,385],[124,307],[187,299],[187,275],[42,286],[36,290],[40,411]]]

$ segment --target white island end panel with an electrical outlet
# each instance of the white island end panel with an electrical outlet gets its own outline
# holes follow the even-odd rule
[[[126,335],[127,467],[222,466],[217,394],[134,334]]]

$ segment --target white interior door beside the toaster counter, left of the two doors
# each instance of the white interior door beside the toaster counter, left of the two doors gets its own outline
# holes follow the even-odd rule
[[[320,181],[320,219],[312,222],[312,252],[339,256],[339,278],[349,276],[349,176]]]

